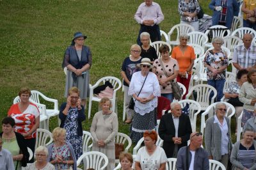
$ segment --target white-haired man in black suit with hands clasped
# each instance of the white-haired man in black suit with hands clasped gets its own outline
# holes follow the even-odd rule
[[[163,149],[168,158],[177,157],[179,148],[188,145],[192,133],[189,117],[181,112],[180,104],[172,102],[171,112],[166,111],[159,123],[158,133],[164,141]]]

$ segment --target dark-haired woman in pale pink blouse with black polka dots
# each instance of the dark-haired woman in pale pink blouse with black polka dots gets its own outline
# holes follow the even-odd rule
[[[176,59],[170,57],[170,49],[168,45],[161,45],[159,52],[161,52],[161,58],[154,61],[156,69],[153,70],[157,75],[157,79],[161,88],[161,96],[166,97],[172,102],[172,84],[170,81],[176,79],[179,73],[179,65]]]

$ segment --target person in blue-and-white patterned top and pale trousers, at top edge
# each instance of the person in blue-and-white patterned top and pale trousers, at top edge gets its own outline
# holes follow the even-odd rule
[[[188,24],[199,30],[197,13],[200,12],[198,0],[179,0],[178,12],[180,14],[180,24]]]

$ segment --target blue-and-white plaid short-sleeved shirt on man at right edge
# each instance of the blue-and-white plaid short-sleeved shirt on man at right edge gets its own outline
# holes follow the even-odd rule
[[[252,67],[256,63],[256,46],[251,45],[246,49],[244,45],[238,45],[234,50],[233,63],[238,63],[242,68]]]

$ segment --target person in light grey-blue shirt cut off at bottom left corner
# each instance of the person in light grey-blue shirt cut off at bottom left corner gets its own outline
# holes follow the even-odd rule
[[[0,170],[13,170],[14,164],[12,160],[12,153],[2,148],[3,142],[0,137]]]

